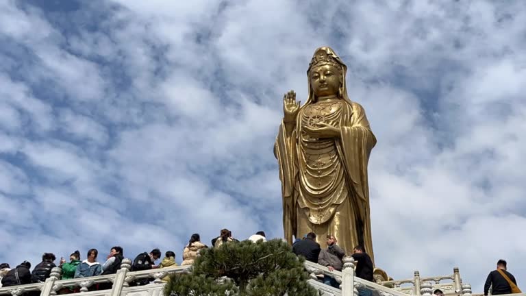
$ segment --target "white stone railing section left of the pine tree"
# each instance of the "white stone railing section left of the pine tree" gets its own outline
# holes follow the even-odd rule
[[[26,284],[20,286],[8,286],[0,288],[0,295],[21,296],[26,292],[40,291],[40,296],[57,295],[62,288],[80,288],[81,292],[90,295],[106,295],[106,296],[123,296],[125,290],[147,290],[149,288],[156,288],[155,291],[162,293],[162,278],[172,273],[186,273],[189,272],[191,266],[183,267],[166,267],[162,269],[150,269],[145,271],[129,271],[132,268],[132,260],[123,259],[121,269],[112,275],[98,275],[95,277],[79,277],[71,280],[60,280],[62,269],[55,267],[51,270],[49,278],[45,282],[37,284]],[[153,285],[129,287],[129,283],[135,280],[151,278]],[[90,287],[97,286],[97,284],[112,284],[111,289],[90,291]],[[89,292],[88,292],[89,291]],[[158,296],[160,294],[154,293]]]

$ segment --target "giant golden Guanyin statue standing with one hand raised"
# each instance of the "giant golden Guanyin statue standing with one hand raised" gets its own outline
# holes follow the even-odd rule
[[[274,154],[279,162],[285,238],[332,234],[346,255],[363,245],[374,260],[367,164],[376,138],[360,104],[347,95],[347,66],[330,47],[316,49],[300,106],[284,95]],[[374,262],[374,261],[373,261]]]

